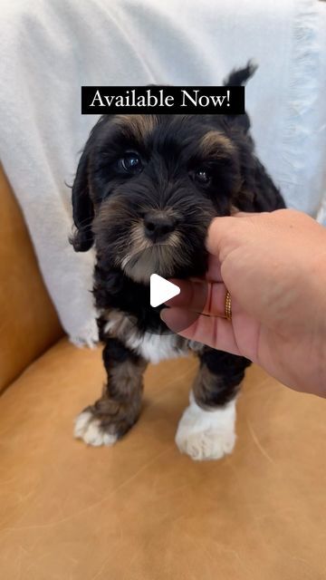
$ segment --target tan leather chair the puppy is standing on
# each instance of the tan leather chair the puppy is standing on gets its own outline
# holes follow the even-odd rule
[[[234,454],[197,463],[174,444],[196,362],[163,362],[124,440],[73,440],[101,349],[63,335],[3,174],[0,198],[0,577],[324,580],[326,402],[252,367]]]

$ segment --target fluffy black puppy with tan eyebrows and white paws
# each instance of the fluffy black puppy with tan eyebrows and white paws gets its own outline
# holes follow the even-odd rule
[[[225,84],[245,83],[251,63]],[[207,228],[232,208],[284,208],[254,155],[247,114],[104,115],[91,131],[72,186],[74,249],[94,244],[93,295],[108,375],[101,398],[75,422],[75,437],[112,445],[138,420],[149,362],[194,351],[199,371],[177,428],[193,459],[219,459],[235,445],[235,398],[243,357],[167,333],[149,305],[149,276],[206,272]]]

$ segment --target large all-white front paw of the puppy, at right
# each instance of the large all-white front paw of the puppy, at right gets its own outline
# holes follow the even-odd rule
[[[235,401],[204,411],[193,397],[177,426],[176,443],[192,459],[221,459],[235,447]]]

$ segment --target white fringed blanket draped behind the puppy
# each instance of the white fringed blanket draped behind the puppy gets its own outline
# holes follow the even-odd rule
[[[75,254],[71,192],[96,117],[81,85],[218,84],[250,58],[257,151],[291,207],[325,220],[326,18],[316,0],[2,0],[0,157],[74,343],[97,338],[93,252]]]

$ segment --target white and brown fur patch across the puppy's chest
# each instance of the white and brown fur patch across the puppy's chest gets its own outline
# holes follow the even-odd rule
[[[117,309],[103,311],[101,317],[106,321],[103,326],[104,336],[119,339],[130,351],[149,362],[177,358],[185,356],[189,350],[202,349],[201,344],[187,341],[174,333],[142,332],[137,326],[136,319]]]

